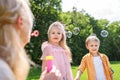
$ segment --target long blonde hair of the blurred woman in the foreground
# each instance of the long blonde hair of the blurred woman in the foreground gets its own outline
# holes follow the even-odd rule
[[[0,58],[10,66],[15,80],[26,80],[30,68],[20,34],[14,27],[16,19],[21,16],[29,22],[32,29],[33,14],[28,2],[0,0]]]

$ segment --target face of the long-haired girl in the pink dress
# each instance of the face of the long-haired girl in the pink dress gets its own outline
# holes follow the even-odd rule
[[[59,44],[61,39],[62,39],[62,31],[57,27],[53,27],[49,33],[50,42],[53,44]]]

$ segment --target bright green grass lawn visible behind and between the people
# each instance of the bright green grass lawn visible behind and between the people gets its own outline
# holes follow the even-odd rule
[[[120,74],[120,61],[112,61],[111,66],[114,70],[114,80],[120,80],[119,74]],[[73,71],[73,76],[75,77],[76,72],[77,72],[78,66],[72,66],[72,71]],[[28,75],[27,80],[39,80],[39,76],[41,73],[41,68],[40,67],[32,67],[30,69],[30,73]],[[81,80],[87,80],[87,74],[86,71],[82,74]]]

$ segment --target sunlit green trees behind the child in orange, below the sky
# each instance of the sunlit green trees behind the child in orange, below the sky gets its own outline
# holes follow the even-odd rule
[[[73,32],[75,27],[80,29],[78,35],[72,34],[67,38],[67,43],[72,51],[73,65],[78,65],[82,57],[88,52],[85,47],[85,40],[95,33],[101,41],[100,52],[106,54],[110,60],[120,60],[120,22],[109,23],[106,19],[96,20],[85,11],[63,12],[60,19],[66,25],[66,31]],[[102,37],[101,31],[107,30],[108,37]],[[114,49],[114,50],[113,50]]]

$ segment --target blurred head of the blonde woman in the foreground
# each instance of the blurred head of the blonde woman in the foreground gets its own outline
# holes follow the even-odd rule
[[[0,0],[0,38],[4,36],[3,41],[6,41],[5,37],[17,35],[23,46],[29,42],[33,14],[28,5],[27,0]]]

